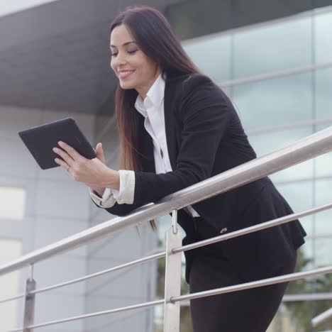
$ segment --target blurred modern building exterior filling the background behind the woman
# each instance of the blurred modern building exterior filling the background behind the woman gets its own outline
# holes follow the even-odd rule
[[[45,1],[46,2],[46,1]],[[60,169],[42,171],[18,131],[67,116],[102,142],[117,168],[116,80],[109,69],[109,23],[138,1],[51,1],[0,17],[0,263],[112,218],[87,188]],[[230,96],[258,156],[332,126],[332,1],[145,1],[165,13],[202,72]],[[1,13],[1,11],[0,11]],[[331,153],[271,176],[294,211],[331,203]],[[308,237],[299,270],[331,265],[332,211],[302,218]],[[170,217],[154,233],[140,226],[35,266],[38,287],[82,277],[165,245]],[[0,297],[23,292],[28,269],[0,277]],[[332,281],[306,280],[289,292],[330,292]],[[187,289],[184,289],[186,292]],[[157,264],[103,275],[38,294],[36,322],[162,297]],[[297,307],[296,307],[297,305]],[[310,331],[327,301],[282,304],[269,332]],[[299,312],[301,314],[299,314]],[[296,314],[298,313],[298,314]],[[0,303],[1,331],[21,326],[22,301]],[[183,319],[188,312],[184,309]],[[40,331],[160,331],[162,308],[100,316]],[[332,326],[324,326],[326,330]],[[182,332],[190,331],[182,324]],[[321,329],[316,331],[322,331]]]

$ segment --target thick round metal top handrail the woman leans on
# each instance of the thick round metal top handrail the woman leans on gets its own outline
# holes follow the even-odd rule
[[[297,143],[289,145],[287,148],[282,148],[274,153],[251,160],[243,165],[179,190],[179,192],[160,199],[155,204],[146,204],[128,214],[128,216],[113,218],[77,233],[74,236],[35,250],[33,253],[18,258],[18,260],[2,265],[0,267],[0,275],[39,262],[40,260],[45,260],[54,255],[65,253],[67,250],[72,250],[80,245],[87,245],[87,243],[105,238],[111,233],[123,231],[126,228],[137,226],[140,223],[145,223],[159,216],[165,216],[173,209],[182,209],[185,206],[235,189],[243,184],[248,184],[256,179],[284,170],[284,168],[304,162],[331,150],[332,127],[303,138],[297,141]]]

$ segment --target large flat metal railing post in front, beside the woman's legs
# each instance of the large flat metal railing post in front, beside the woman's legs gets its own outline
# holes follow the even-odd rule
[[[172,228],[167,232],[164,332],[179,332],[179,302],[172,302],[172,297],[181,294],[181,253],[172,253],[173,248],[181,247],[182,236],[177,229],[177,210],[172,211]]]

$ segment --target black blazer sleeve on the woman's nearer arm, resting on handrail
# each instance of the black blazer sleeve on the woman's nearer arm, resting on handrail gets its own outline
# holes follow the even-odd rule
[[[211,177],[234,109],[226,94],[205,75],[194,74],[182,89],[177,110],[182,118],[182,132],[176,169],[165,174],[135,172],[136,206],[158,201]]]

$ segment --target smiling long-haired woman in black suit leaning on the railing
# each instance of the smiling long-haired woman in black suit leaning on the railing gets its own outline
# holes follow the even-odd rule
[[[92,189],[94,202],[123,216],[144,204],[253,160],[226,94],[199,73],[169,23],[149,7],[127,9],[111,25],[111,67],[119,80],[116,118],[121,170],[105,165],[101,143],[87,160],[65,143],[57,163]],[[291,214],[267,177],[179,211],[184,244]],[[186,253],[191,292],[294,271],[305,232],[299,221]],[[262,332],[287,284],[191,302],[194,332]]]

